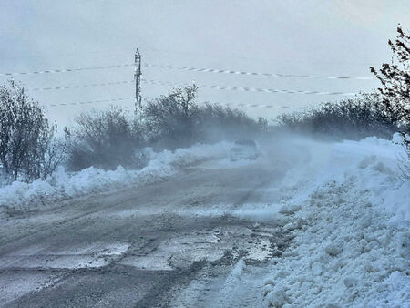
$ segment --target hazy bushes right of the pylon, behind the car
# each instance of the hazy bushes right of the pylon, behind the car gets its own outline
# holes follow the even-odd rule
[[[255,121],[240,110],[197,105],[197,90],[196,86],[176,89],[144,106],[142,121],[149,144],[157,149],[175,149],[195,142],[251,137],[267,129],[266,120]]]

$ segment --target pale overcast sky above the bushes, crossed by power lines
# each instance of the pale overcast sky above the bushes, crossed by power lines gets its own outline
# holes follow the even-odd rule
[[[372,77],[388,61],[396,26],[410,28],[408,0],[1,0],[0,73],[132,64],[205,67],[291,75]],[[253,93],[209,85],[310,91],[369,91],[375,80],[258,77],[142,67],[143,77],[200,86],[199,101],[274,105],[243,108],[273,118],[343,96]],[[131,81],[133,67],[15,75],[29,89]],[[1,77],[5,82],[7,77]],[[203,87],[201,87],[203,86]],[[172,87],[143,84],[143,98]],[[131,82],[107,87],[28,91],[66,125],[79,111],[108,103],[49,104],[132,97]],[[118,104],[132,108],[132,100]],[[292,109],[293,108],[293,109]]]

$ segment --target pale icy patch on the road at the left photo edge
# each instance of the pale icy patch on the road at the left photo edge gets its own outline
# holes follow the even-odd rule
[[[115,261],[129,248],[128,243],[94,243],[64,249],[34,245],[0,257],[0,269],[99,268]]]

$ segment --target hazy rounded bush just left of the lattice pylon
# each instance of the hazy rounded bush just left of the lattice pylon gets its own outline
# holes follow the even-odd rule
[[[137,122],[121,108],[83,113],[76,118],[68,166],[73,170],[96,167],[116,169],[142,163],[136,150],[143,145]]]

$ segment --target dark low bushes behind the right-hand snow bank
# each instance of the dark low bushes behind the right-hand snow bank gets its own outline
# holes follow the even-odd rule
[[[323,103],[300,113],[283,114],[278,121],[282,128],[301,133],[342,139],[391,138],[397,131],[397,123],[385,114],[379,95],[362,94],[340,102]]]

